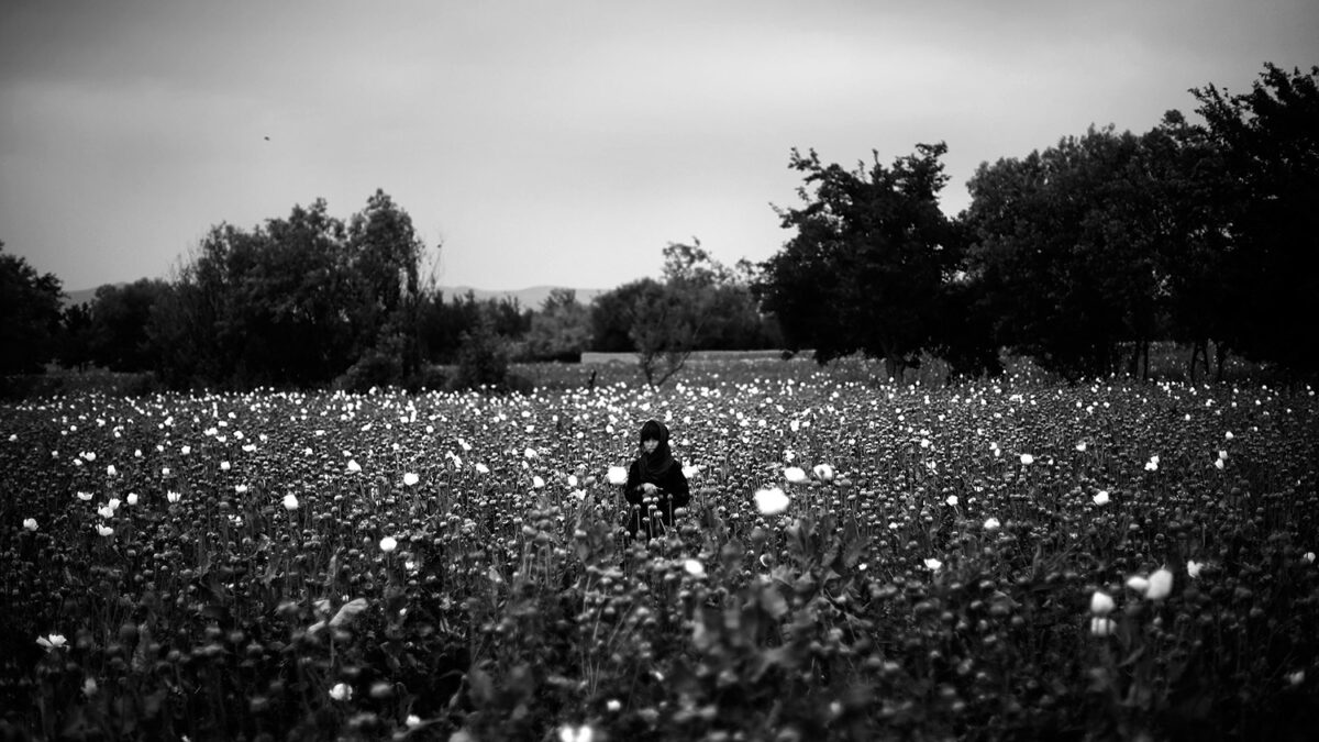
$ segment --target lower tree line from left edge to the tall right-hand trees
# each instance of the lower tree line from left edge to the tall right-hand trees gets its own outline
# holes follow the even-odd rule
[[[3,248],[3,243],[0,243]],[[62,287],[0,252],[0,372],[149,372],[170,388],[500,387],[514,360],[637,353],[663,383],[703,349],[774,347],[749,268],[700,247],[665,248],[662,280],[591,305],[554,289],[538,309],[514,298],[446,297],[423,277],[426,246],[383,190],[347,220],[323,199],[245,230],[211,227],[177,275],[103,285],[62,309]]]

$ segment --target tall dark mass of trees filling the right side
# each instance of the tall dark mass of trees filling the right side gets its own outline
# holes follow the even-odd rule
[[[1150,342],[1178,339],[1206,375],[1212,345],[1220,368],[1240,353],[1312,376],[1297,327],[1319,313],[1319,67],[1192,92],[1202,123],[1170,111],[983,164],[954,222],[942,145],[856,170],[794,151],[803,203],[778,210],[795,234],[762,265],[764,308],[789,347],[890,374],[922,351],[995,372],[1005,347],[1076,380],[1142,372]]]

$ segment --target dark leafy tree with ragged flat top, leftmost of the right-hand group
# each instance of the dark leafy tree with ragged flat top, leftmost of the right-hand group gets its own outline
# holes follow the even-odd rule
[[[855,170],[791,152],[805,205],[776,209],[797,234],[762,264],[756,285],[790,350],[814,347],[820,363],[852,353],[884,358],[894,376],[930,345],[960,253],[939,210],[946,152],[943,143],[918,144],[890,166],[876,152]]]

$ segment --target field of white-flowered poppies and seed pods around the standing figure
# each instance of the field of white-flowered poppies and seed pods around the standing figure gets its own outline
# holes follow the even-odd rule
[[[0,737],[1319,724],[1311,388],[758,368],[7,404]],[[619,467],[648,419],[692,500],[627,543]]]

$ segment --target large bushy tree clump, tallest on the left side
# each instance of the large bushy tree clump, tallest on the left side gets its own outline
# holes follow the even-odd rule
[[[419,252],[380,191],[348,226],[317,199],[253,230],[214,227],[152,316],[168,380],[323,384],[368,353],[408,353]]]

